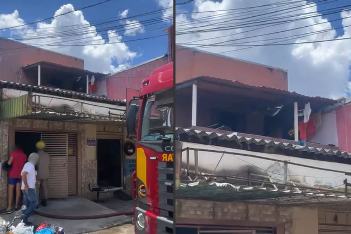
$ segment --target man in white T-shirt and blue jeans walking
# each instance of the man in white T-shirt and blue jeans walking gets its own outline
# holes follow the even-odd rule
[[[35,184],[37,183],[35,165],[37,165],[38,162],[39,155],[37,153],[31,153],[28,157],[28,162],[24,165],[21,172],[23,204],[27,206],[27,209],[24,210],[22,214],[24,214],[23,222],[26,225],[32,225],[32,223],[28,222],[28,218],[38,205],[38,196],[35,192]]]

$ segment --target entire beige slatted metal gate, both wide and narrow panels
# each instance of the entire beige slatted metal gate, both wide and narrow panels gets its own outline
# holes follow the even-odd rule
[[[49,198],[77,195],[77,134],[42,132],[50,155]]]

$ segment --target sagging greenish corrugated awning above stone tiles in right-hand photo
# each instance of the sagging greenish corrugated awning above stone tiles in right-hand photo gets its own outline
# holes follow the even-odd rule
[[[336,191],[318,189],[293,190],[266,187],[240,187],[230,183],[193,182],[180,186],[178,199],[202,199],[211,201],[249,201],[291,205],[298,203],[350,202],[351,198]]]

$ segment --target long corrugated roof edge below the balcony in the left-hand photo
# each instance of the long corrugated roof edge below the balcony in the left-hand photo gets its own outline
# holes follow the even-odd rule
[[[11,89],[31,91],[31,92],[42,93],[42,94],[63,96],[65,98],[75,98],[75,99],[86,100],[86,101],[95,101],[95,102],[101,102],[101,103],[107,103],[107,104],[113,104],[113,105],[126,106],[126,101],[124,100],[123,101],[115,100],[115,99],[107,98],[105,96],[90,95],[86,93],[75,92],[75,91],[70,91],[65,89],[49,88],[45,86],[25,85],[25,84],[0,80],[0,88],[11,88]]]

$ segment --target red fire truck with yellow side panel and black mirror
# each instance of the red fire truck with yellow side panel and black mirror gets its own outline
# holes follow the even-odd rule
[[[153,71],[133,101],[127,134],[137,139],[135,233],[173,233],[173,62]]]

